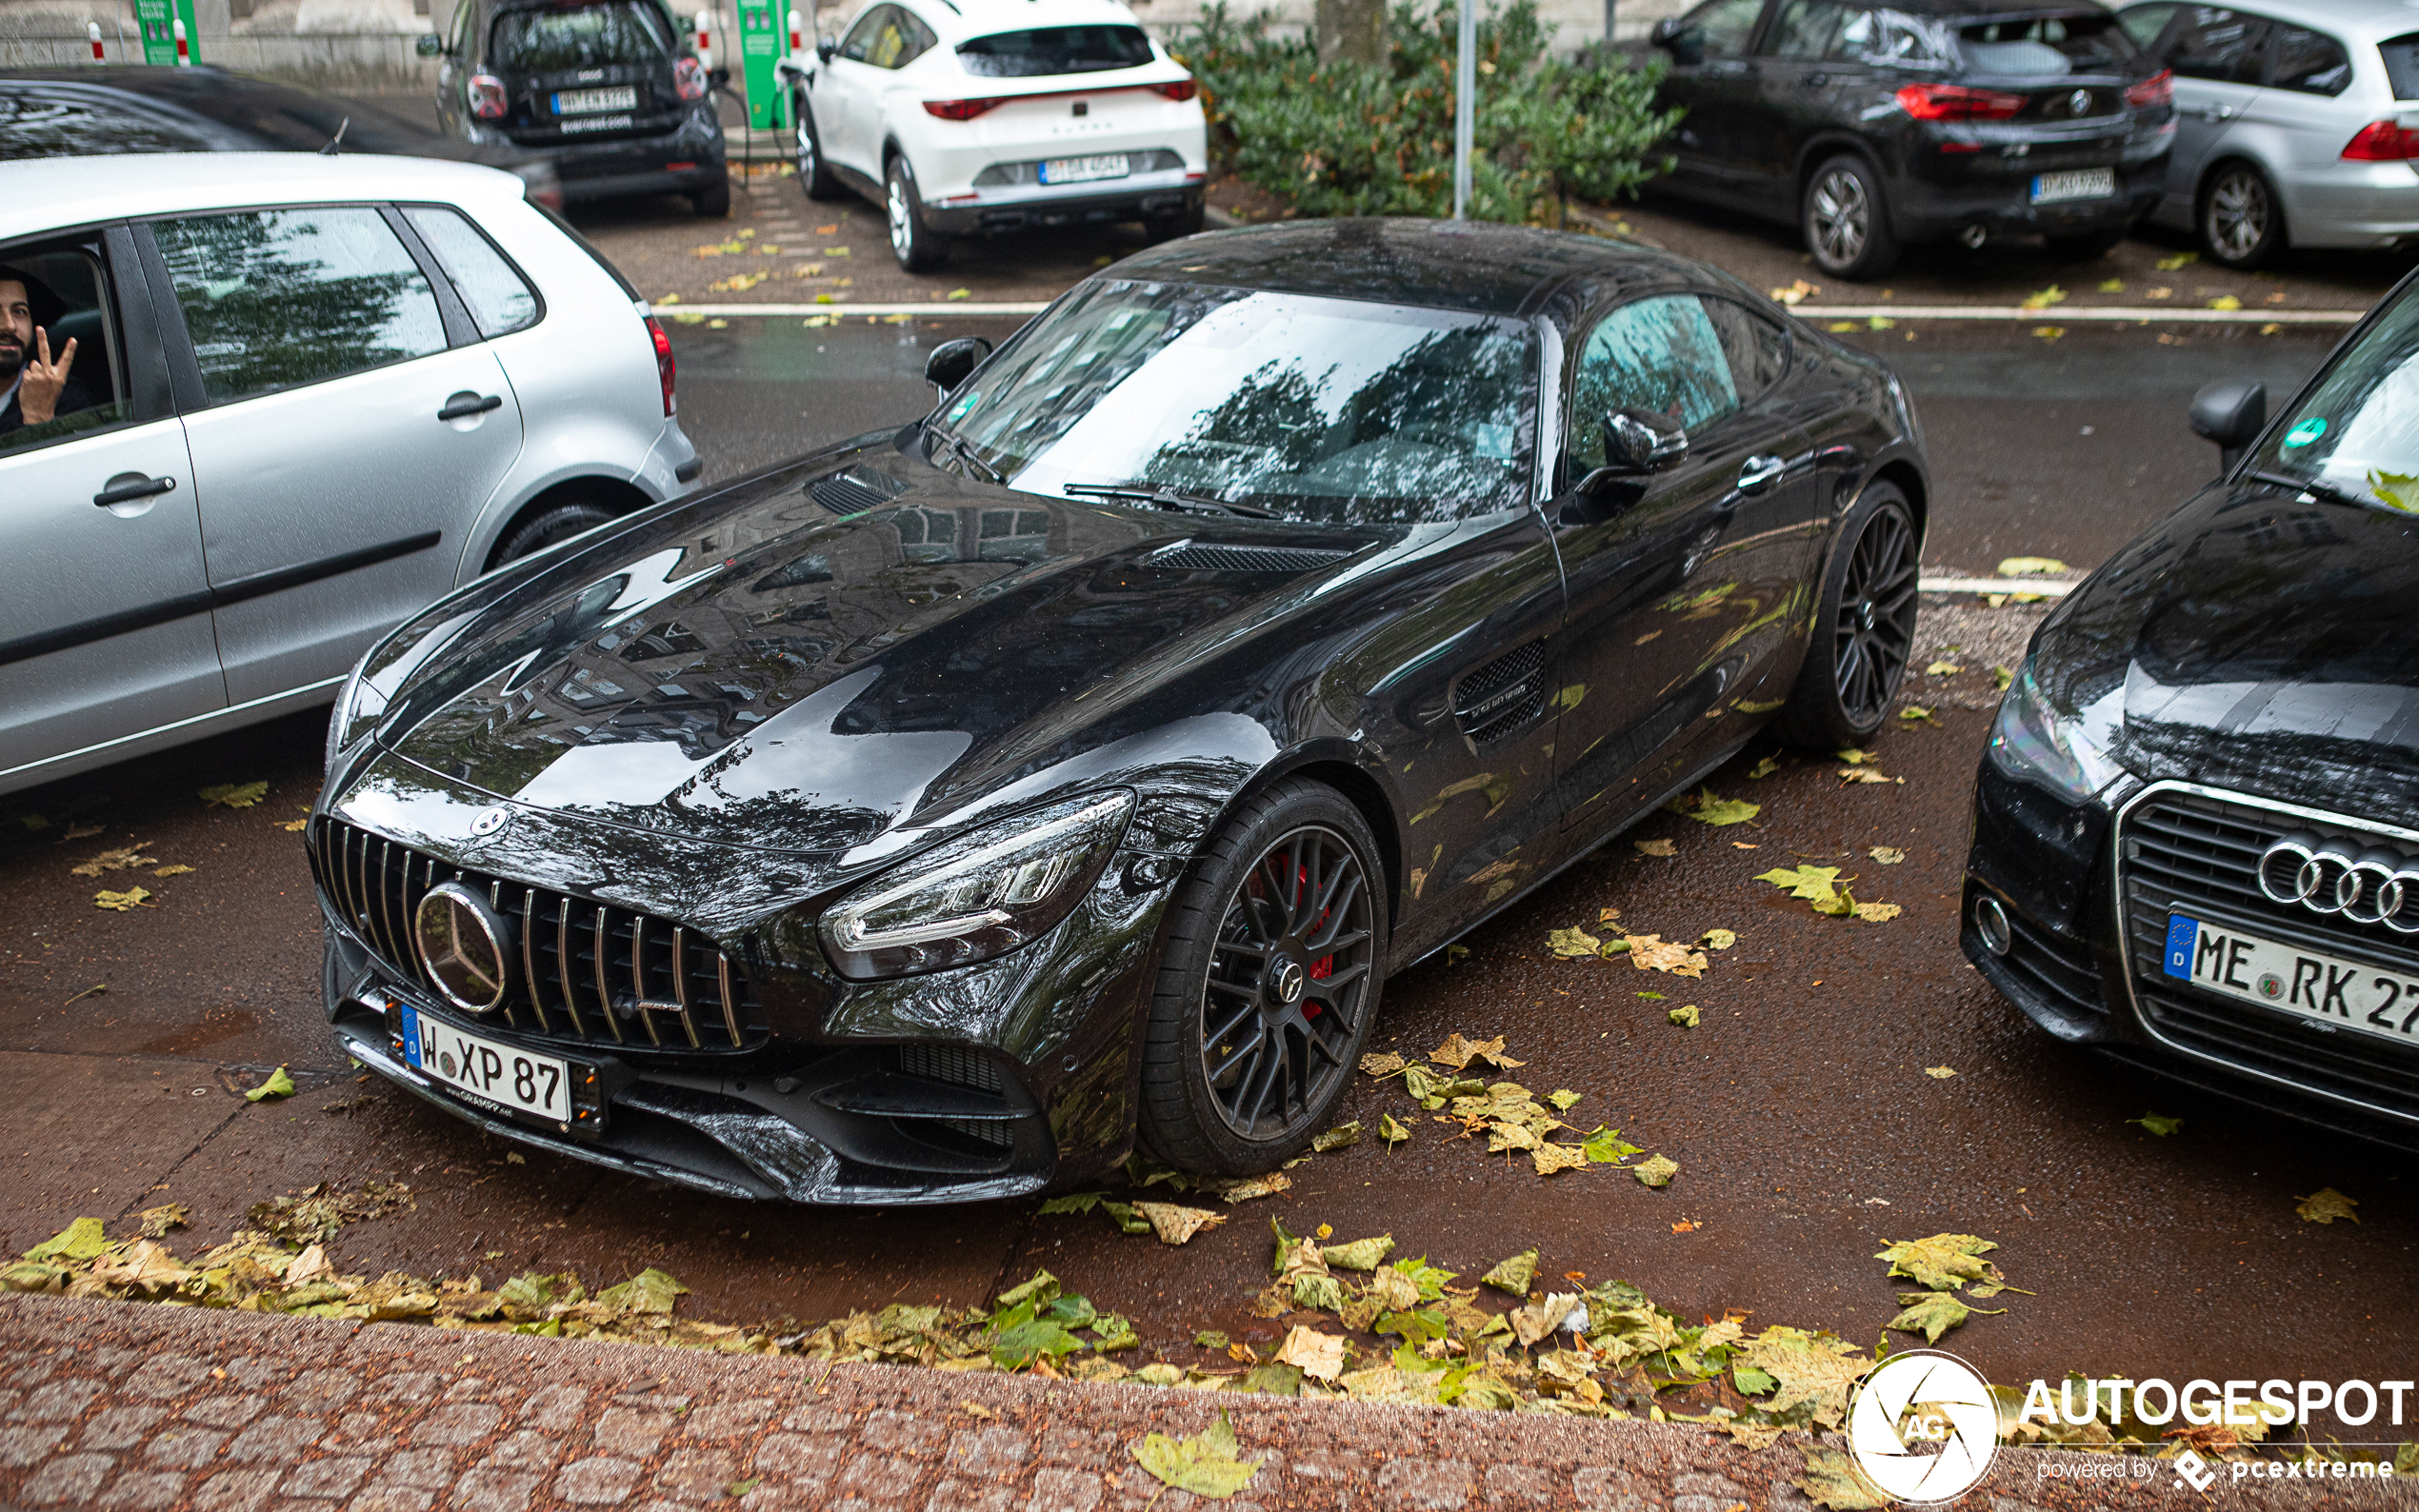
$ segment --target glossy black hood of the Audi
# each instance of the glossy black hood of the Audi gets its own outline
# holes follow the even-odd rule
[[[2061,605],[2034,675],[2143,779],[2419,823],[2419,520],[2211,486]]]

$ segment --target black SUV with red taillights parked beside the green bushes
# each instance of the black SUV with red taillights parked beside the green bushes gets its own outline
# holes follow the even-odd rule
[[[1708,0],[1655,27],[1659,189],[1795,220],[1834,278],[1909,242],[2097,256],[2158,206],[2175,80],[2100,5]]]

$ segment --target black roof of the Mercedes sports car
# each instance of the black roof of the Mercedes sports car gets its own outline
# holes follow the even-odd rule
[[[1188,237],[1139,252],[1115,278],[1224,283],[1473,314],[1524,314],[1572,276],[1696,283],[1708,271],[1630,242],[1483,220],[1299,220]]]

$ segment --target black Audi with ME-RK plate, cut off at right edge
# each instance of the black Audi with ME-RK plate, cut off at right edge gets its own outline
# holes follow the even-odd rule
[[[2419,1144],[2419,283],[2042,622],[1964,953],[2044,1031]]]

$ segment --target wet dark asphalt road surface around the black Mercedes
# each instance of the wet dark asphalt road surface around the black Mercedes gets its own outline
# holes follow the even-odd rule
[[[682,416],[728,477],[912,414],[929,394],[922,351],[963,329],[982,327],[675,327]],[[2257,336],[2177,348],[2143,331],[1870,339],[1889,344],[1930,426],[1928,559],[1957,569],[2015,552],[2090,566],[2211,469],[2182,431],[2192,387],[2240,370],[2284,385],[2325,351]],[[1047,1265],[1135,1316],[1149,1352],[1193,1360],[1207,1357],[1188,1343],[1200,1328],[1275,1340],[1275,1323],[1246,1314],[1268,1277],[1270,1217],[1343,1239],[1391,1231],[1398,1253],[1468,1272],[1536,1243],[1541,1275],[1618,1275],[1684,1314],[1747,1309],[1754,1326],[1867,1345],[1896,1311],[1875,1251],[1964,1231],[1998,1241],[2008,1277],[2034,1292],[1945,1340],[1993,1379],[2409,1377],[2419,1323],[2402,1297],[2419,1219],[2400,1183],[2412,1161],[2032,1033],[1955,948],[1988,668],[1928,680],[1918,697],[1940,704],[1935,726],[1877,743],[1904,786],[1841,786],[1829,764],[1802,762],[1751,781],[1734,762],[1713,786],[1763,803],[1756,825],[1652,815],[1628,839],[1669,837],[1674,859],[1618,839],[1476,931],[1466,960],[1386,987],[1381,1043],[1425,1052],[1454,1031],[1507,1035],[1526,1086],[1582,1093],[1580,1127],[1604,1120],[1676,1159],[1669,1190],[1611,1171],[1543,1181],[1447,1139],[1391,1084],[1359,1081],[1343,1115],[1374,1127],[1391,1110],[1413,1125],[1408,1144],[1318,1156],[1289,1193],[1236,1207],[1185,1248],[1120,1236],[1098,1214],[1045,1219],[1033,1202],[801,1212],[542,1154],[508,1161],[440,1113],[356,1084],[319,1021],[317,922],[300,837],[283,830],[317,786],[312,719],[0,798],[0,1243],[164,1200],[194,1207],[186,1241],[218,1241],[266,1195],[382,1176],[409,1181],[418,1210],[346,1231],[348,1270],[493,1282],[520,1268],[619,1280],[663,1265],[697,1289],[694,1311],[757,1321],[977,1302]],[[259,808],[194,796],[254,779],[269,781]],[[97,832],[63,839],[70,825]],[[157,866],[194,871],[70,873],[135,839]],[[1906,861],[1870,861],[1875,844]],[[1843,924],[1751,881],[1797,859],[1846,866],[1863,878],[1858,898],[1899,902],[1904,917]],[[155,893],[152,907],[92,905],[97,888],[128,881]],[[1621,907],[1633,931],[1725,927],[1739,943],[1703,982],[1555,963],[1546,931],[1592,924],[1599,907]],[[68,1002],[94,982],[109,989]],[[1698,1004],[1701,1028],[1672,1026],[1676,1004]],[[302,1093],[247,1106],[239,1089],[276,1064]],[[2184,1118],[2182,1132],[2158,1139],[2126,1123],[2153,1110]],[[2298,1222],[2293,1200],[2320,1185],[2359,1198],[2363,1222]]]

